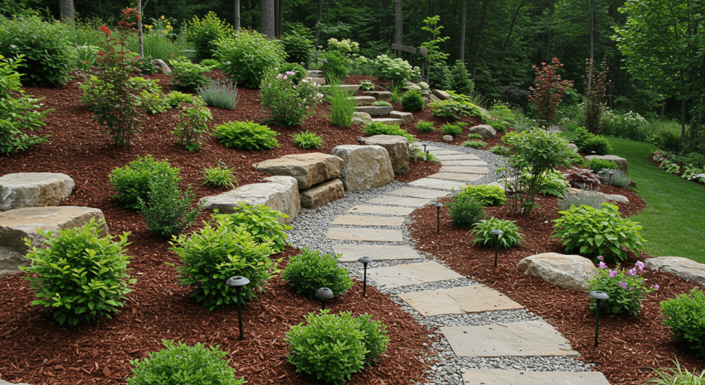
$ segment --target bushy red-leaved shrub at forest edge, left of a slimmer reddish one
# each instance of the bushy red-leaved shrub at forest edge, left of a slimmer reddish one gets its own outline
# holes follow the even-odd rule
[[[541,63],[541,68],[533,66],[536,70],[536,83],[533,87],[529,87],[529,101],[532,102],[534,110],[537,112],[539,119],[544,123],[551,123],[556,120],[556,112],[560,99],[563,99],[565,90],[572,87],[572,81],[563,80],[556,73],[558,68],[563,67],[563,64],[558,61],[558,58],[553,58],[551,64]]]

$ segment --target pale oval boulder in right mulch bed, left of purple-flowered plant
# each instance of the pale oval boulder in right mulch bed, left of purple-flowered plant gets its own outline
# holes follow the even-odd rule
[[[544,252],[519,261],[517,269],[561,288],[575,291],[590,291],[587,285],[597,268],[590,259],[580,255],[563,255]]]

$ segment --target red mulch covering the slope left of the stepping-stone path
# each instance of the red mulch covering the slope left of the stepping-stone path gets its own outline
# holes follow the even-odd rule
[[[215,72],[210,75],[221,76]],[[165,91],[170,75],[152,75],[159,79]],[[33,295],[22,274],[0,278],[0,374],[13,382],[38,384],[124,384],[130,375],[130,360],[146,357],[147,353],[162,348],[161,338],[178,339],[185,343],[218,344],[231,354],[228,356],[250,384],[316,384],[317,381],[295,372],[286,361],[283,336],[290,325],[303,321],[308,312],[319,309],[320,302],[295,295],[281,277],[276,277],[252,303],[244,307],[245,341],[237,341],[235,308],[208,312],[192,302],[189,288],[178,284],[173,267],[164,262],[179,263],[168,250],[168,243],[154,238],[141,216],[118,204],[111,198],[114,192],[108,180],[116,167],[125,166],[137,157],[152,154],[155,159],[168,159],[181,169],[182,187],[193,184],[197,198],[222,193],[223,190],[201,185],[200,170],[214,166],[222,159],[235,169],[240,185],[256,183],[267,175],[255,171],[252,164],[285,154],[305,152],[330,153],[337,145],[357,144],[363,136],[355,126],[331,126],[326,106],[319,105],[315,116],[305,125],[294,128],[272,126],[281,133],[279,147],[266,151],[228,149],[215,138],[203,140],[198,152],[190,153],[176,144],[170,131],[176,125],[176,110],[156,116],[147,116],[140,138],[125,148],[116,148],[109,134],[94,123],[92,113],[80,104],[78,80],[65,87],[50,89],[26,87],[27,94],[45,97],[49,114],[47,127],[38,135],[51,135],[50,142],[31,147],[25,152],[0,157],[0,174],[17,172],[66,173],[76,185],[71,197],[63,205],[87,206],[101,209],[113,235],[131,232],[129,254],[133,277],[138,279],[135,291],[128,295],[125,308],[114,319],[105,319],[95,326],[60,327],[44,314],[43,309],[30,306]],[[226,121],[252,120],[262,122],[266,112],[259,104],[259,91],[238,87],[238,106],[233,111],[211,109],[214,121],[211,128]],[[311,130],[321,135],[325,143],[321,149],[304,150],[295,147],[288,135]],[[396,176],[407,182],[436,173],[440,164],[419,162],[410,164],[408,175]],[[198,223],[209,218],[200,216]],[[195,228],[200,228],[195,226]],[[273,256],[286,257],[296,252]],[[326,304],[333,312],[352,310],[371,313],[388,326],[391,342],[383,360],[353,376],[350,384],[408,384],[410,379],[422,381],[427,365],[408,365],[417,362],[423,343],[430,343],[429,331],[399,309],[387,295],[369,288],[368,297],[361,297],[362,286],[357,283],[350,292]],[[424,350],[425,351],[425,350]]]

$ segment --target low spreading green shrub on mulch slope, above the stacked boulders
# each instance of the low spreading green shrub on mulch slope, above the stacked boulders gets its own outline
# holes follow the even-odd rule
[[[279,133],[252,121],[223,123],[216,126],[213,135],[219,138],[226,147],[247,149],[248,151],[279,147],[279,142],[275,139]]]

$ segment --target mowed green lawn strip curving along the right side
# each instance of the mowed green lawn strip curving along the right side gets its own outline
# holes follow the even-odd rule
[[[566,138],[572,132],[563,131]],[[649,240],[644,252],[654,257],[685,257],[705,263],[705,186],[686,181],[654,166],[648,155],[656,147],[647,143],[607,137],[611,154],[627,159],[634,191],[646,209],[630,219],[640,222]]]

